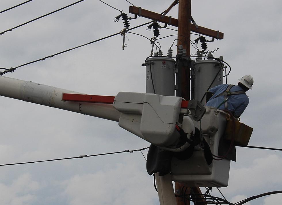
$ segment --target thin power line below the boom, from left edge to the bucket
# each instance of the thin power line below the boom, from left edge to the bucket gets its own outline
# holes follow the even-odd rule
[[[29,162],[20,162],[20,163],[1,164],[0,166],[19,165],[19,164],[31,164],[31,163],[37,163],[37,162],[58,161],[58,160],[65,160],[65,159],[79,159],[79,158],[84,158],[84,157],[96,157],[96,156],[102,156],[102,155],[113,155],[113,154],[119,154],[119,153],[124,153],[124,152],[133,153],[135,151],[140,152],[141,150],[145,150],[145,149],[148,149],[148,148],[149,147],[144,147],[142,149],[135,149],[135,150],[128,150],[127,149],[125,151],[102,153],[102,154],[96,154],[96,155],[79,155],[79,157],[66,157],[66,158],[59,158],[59,159],[48,159],[48,160],[40,160],[40,161],[29,161]],[[141,153],[142,153],[142,151],[141,151]]]

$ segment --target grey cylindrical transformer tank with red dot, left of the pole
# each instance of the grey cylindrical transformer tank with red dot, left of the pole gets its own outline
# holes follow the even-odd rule
[[[151,57],[146,65],[146,93],[174,96],[175,61],[169,57]]]

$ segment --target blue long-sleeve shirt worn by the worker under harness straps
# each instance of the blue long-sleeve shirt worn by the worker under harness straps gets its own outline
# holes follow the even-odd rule
[[[223,93],[226,91],[228,84],[222,84],[215,86],[211,89],[209,89],[209,92],[214,93],[214,95],[209,99],[207,104],[205,106],[207,107],[215,107],[217,108],[223,101],[224,96],[218,96],[217,95]],[[230,89],[230,92],[237,92],[237,91],[244,91],[240,86],[235,85]],[[227,100],[227,108],[228,110],[233,113],[235,117],[240,117],[240,115],[244,112],[247,105],[249,104],[249,97],[245,94],[239,94],[239,95],[229,95]],[[224,103],[218,108],[220,110],[224,110],[225,106]]]

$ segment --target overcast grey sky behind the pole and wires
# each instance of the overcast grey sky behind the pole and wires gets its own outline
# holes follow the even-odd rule
[[[106,1],[106,0],[105,0]],[[1,0],[0,10],[23,2]],[[0,14],[0,30],[54,11],[75,1],[34,0]],[[124,0],[107,3],[128,13]],[[136,6],[163,12],[172,0],[131,0]],[[224,40],[208,43],[215,57],[224,56],[232,67],[228,83],[250,74],[253,90],[241,121],[254,128],[249,145],[282,147],[282,2],[279,0],[192,1],[198,25],[224,33]],[[114,22],[120,12],[98,0],[44,17],[0,36],[0,67],[16,67],[123,29]],[[178,16],[178,8],[169,15]],[[129,16],[133,17],[132,14]],[[138,17],[131,27],[148,22]],[[132,32],[153,37],[140,27]],[[171,27],[176,29],[175,27]],[[176,34],[161,29],[160,37]],[[61,55],[19,68],[5,76],[94,95],[119,91],[145,92],[145,68],[151,44],[144,37],[117,35]],[[192,37],[195,37],[192,35]],[[164,53],[175,37],[159,40]],[[174,53],[176,52],[174,46]],[[191,54],[195,53],[191,49]],[[1,80],[1,78],[0,78]],[[128,133],[118,123],[16,99],[0,97],[0,164],[91,155],[142,148],[148,142]],[[144,151],[146,154],[147,151]],[[231,163],[229,185],[221,188],[235,203],[249,196],[281,190],[282,153],[237,148]],[[146,172],[140,152],[72,159],[0,168],[0,204],[158,204],[153,177]],[[213,195],[220,196],[216,190]],[[248,205],[279,204],[282,195],[254,200]]]

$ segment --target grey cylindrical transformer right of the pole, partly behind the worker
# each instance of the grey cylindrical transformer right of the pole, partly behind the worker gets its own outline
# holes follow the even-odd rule
[[[198,100],[202,105],[206,104],[205,92],[214,86],[223,83],[223,66],[220,61],[214,60],[211,54],[208,54],[206,60],[197,58],[194,63],[194,100]]]

